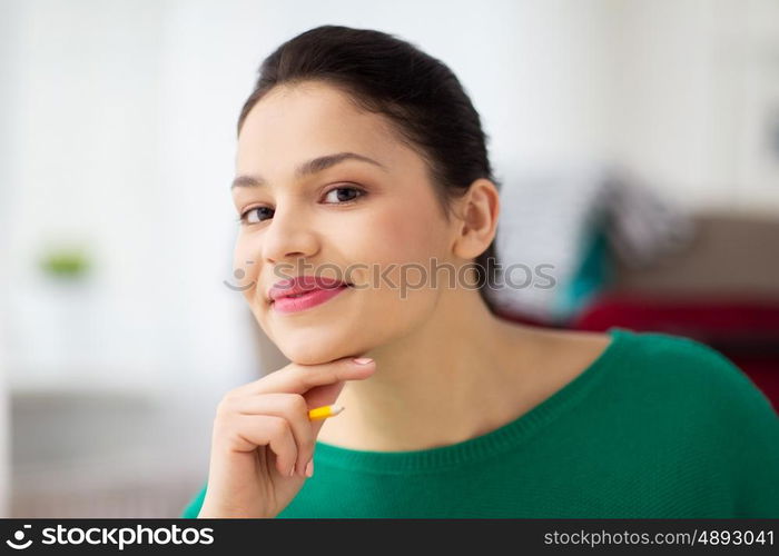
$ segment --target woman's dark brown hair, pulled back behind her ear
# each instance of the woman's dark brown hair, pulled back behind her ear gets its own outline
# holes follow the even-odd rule
[[[259,68],[254,91],[244,103],[238,135],[249,110],[274,87],[308,81],[339,89],[359,110],[385,116],[398,139],[426,161],[443,215],[450,200],[492,173],[486,135],[462,85],[440,60],[381,31],[322,26],[286,41]],[[475,259],[479,291],[494,284],[495,241]]]

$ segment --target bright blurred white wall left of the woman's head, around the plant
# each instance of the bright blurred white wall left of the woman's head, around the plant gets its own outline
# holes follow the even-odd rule
[[[233,119],[252,66],[215,87],[220,64],[187,34],[184,4],[12,6],[12,379],[207,391],[250,377],[243,306],[221,280]],[[41,280],[37,257],[58,241],[93,249],[86,291]],[[55,337],[71,332],[67,346]]]

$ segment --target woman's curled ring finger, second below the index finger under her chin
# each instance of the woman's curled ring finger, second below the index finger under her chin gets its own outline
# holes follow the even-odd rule
[[[236,414],[231,420],[234,449],[252,451],[267,446],[276,455],[276,469],[283,477],[297,460],[297,445],[289,424],[275,415]]]

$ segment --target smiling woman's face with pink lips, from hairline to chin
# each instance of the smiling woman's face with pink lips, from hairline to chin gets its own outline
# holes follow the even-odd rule
[[[377,163],[344,159],[296,173],[312,159],[342,152]],[[233,188],[244,215],[234,267],[244,271],[255,318],[288,359],[312,365],[363,354],[431,317],[444,287],[433,287],[430,271],[403,265],[452,261],[455,220],[441,212],[422,158],[383,117],[358,111],[326,85],[278,87],[244,121],[236,176],[262,177],[264,185],[237,179]],[[268,289],[298,275],[356,287],[305,310],[276,310]],[[411,282],[405,299],[403,276]],[[445,286],[446,272],[442,278]]]

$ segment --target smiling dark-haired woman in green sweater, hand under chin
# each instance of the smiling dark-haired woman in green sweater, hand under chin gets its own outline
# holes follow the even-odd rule
[[[438,60],[371,30],[295,37],[260,68],[236,168],[236,268],[292,363],[224,397],[183,517],[779,517],[777,416],[719,353],[496,316],[499,185]]]

